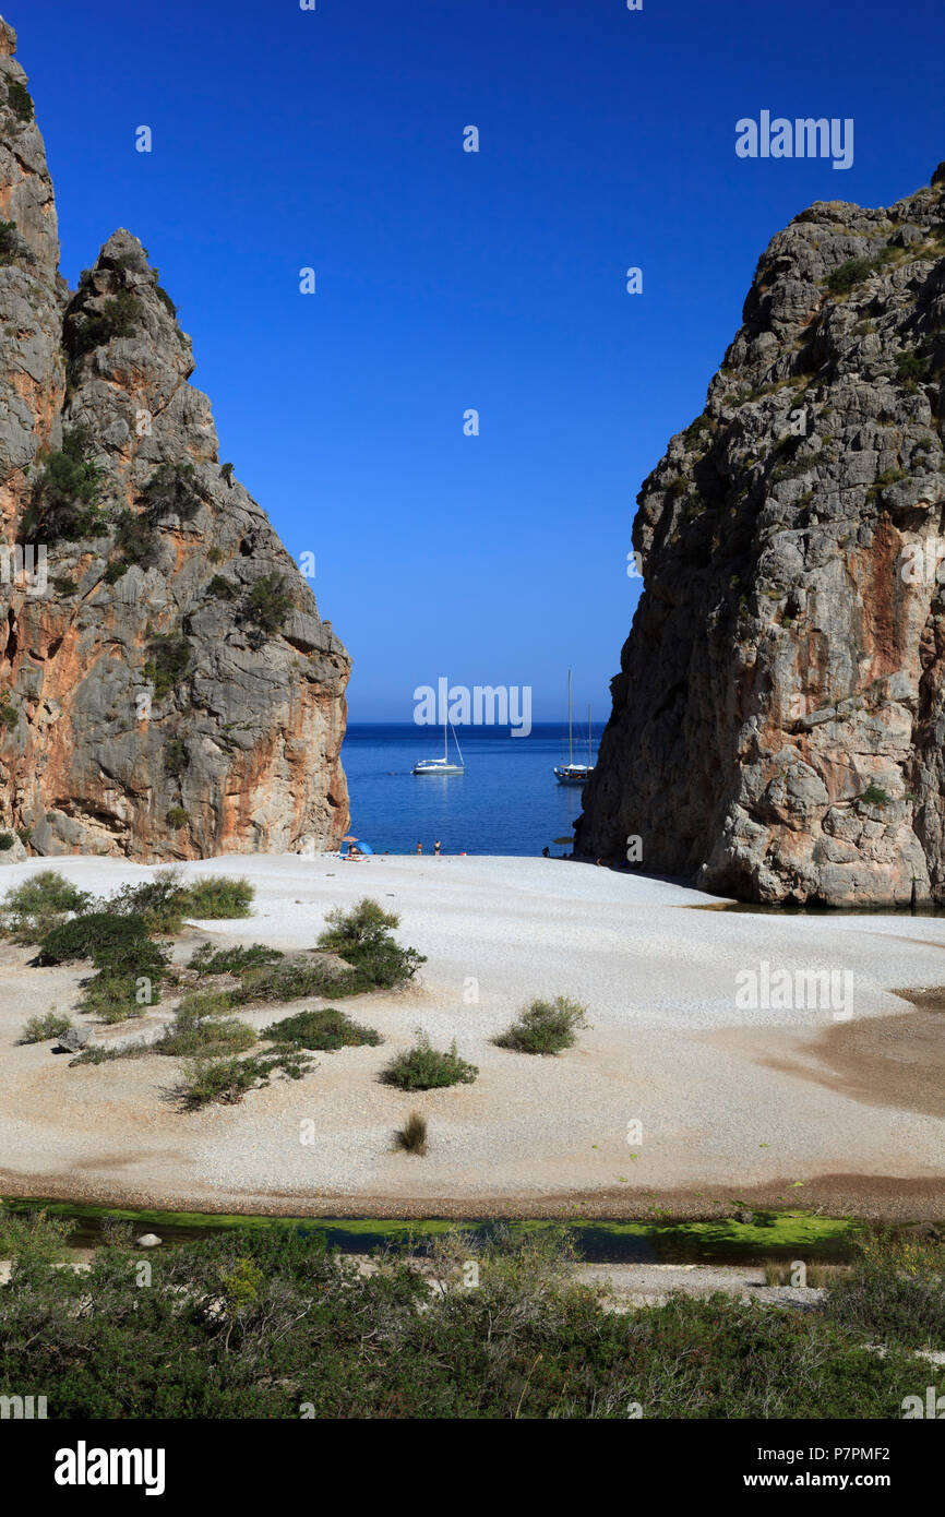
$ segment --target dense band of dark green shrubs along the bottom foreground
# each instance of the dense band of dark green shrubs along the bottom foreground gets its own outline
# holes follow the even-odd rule
[[[575,1280],[573,1248],[551,1230],[493,1227],[472,1239],[478,1288],[461,1288],[454,1264],[437,1292],[408,1258],[387,1255],[361,1276],[317,1232],[278,1227],[155,1248],[152,1285],[129,1291],[121,1247],[99,1248],[80,1274],[39,1268],[62,1256],[65,1232],[0,1214],[0,1253],[30,1262],[0,1292],[0,1356],[9,1390],[49,1396],[50,1414],[73,1423],[241,1427],[297,1421],[305,1402],[323,1421],[604,1418],[625,1429],[639,1406],[648,1421],[862,1426],[901,1418],[928,1377],[903,1349],[878,1355],[816,1308],[716,1294],[614,1312]],[[461,1267],[469,1232],[447,1233],[440,1256]]]

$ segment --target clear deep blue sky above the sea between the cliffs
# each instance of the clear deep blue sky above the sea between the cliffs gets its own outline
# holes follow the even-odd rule
[[[410,721],[440,674],[531,684],[554,721],[569,664],[604,718],[636,493],[701,411],[758,253],[812,200],[886,205],[945,158],[940,0],[3,14],[62,272],[117,226],[147,246],[221,458],[317,555],[353,721]],[[739,159],[761,109],[852,117],[852,168]]]

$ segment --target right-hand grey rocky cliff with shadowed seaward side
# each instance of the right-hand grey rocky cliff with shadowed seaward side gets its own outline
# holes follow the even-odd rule
[[[639,496],[576,846],[754,901],[945,898],[945,165],[772,240]]]

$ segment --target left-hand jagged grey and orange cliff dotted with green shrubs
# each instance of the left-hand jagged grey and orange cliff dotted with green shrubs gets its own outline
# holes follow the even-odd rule
[[[332,846],[350,661],[220,464],[141,243],[58,275],[14,50],[0,21],[0,859]]]

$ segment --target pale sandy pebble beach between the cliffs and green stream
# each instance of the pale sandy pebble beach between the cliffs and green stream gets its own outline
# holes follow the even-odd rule
[[[149,874],[100,859],[55,866],[96,892]],[[2,878],[36,868],[49,862]],[[896,995],[945,983],[945,921],[687,912],[705,897],[542,859],[262,856],[185,872],[246,874],[256,886],[250,919],[193,924],[191,945],[208,933],[309,948],[326,910],[369,894],[400,913],[400,941],[428,956],[422,978],[405,994],[344,1003],[382,1033],[381,1047],[319,1054],[302,1082],[181,1113],[167,1098],[174,1060],[70,1069],[49,1045],[17,1047],[27,1015],[70,1009],[80,972],[29,969],[27,956],[5,948],[8,1194],[309,1215],[611,1217],[693,1215],[734,1194],[945,1215],[945,1110],[934,1094],[945,1018],[904,1012]],[[818,1006],[745,1009],[739,975],[763,962],[849,972],[854,1021],[837,1024]],[[520,1006],[557,994],[589,1007],[576,1048],[532,1059],[493,1045]],[[244,1013],[256,1027],[276,1015]],[[417,1025],[440,1045],[455,1038],[478,1082],[423,1095],[381,1085]],[[391,1148],[413,1107],[429,1123],[426,1159]]]

